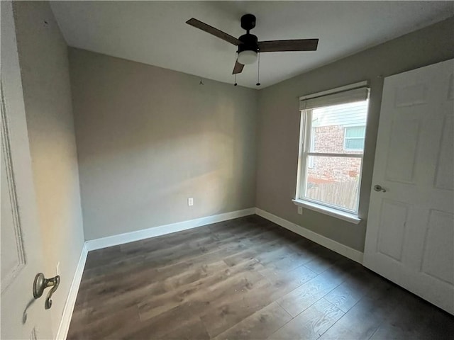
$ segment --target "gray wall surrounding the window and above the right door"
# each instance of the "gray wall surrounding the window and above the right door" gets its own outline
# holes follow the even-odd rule
[[[383,77],[453,58],[453,42],[454,18],[450,18],[261,90],[256,206],[362,251]],[[297,183],[298,97],[363,80],[369,80],[371,88],[359,208],[364,220],[353,225],[307,209],[298,215],[291,201]]]

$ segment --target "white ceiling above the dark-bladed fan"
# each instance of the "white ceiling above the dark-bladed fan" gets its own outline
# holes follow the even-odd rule
[[[235,37],[253,13],[259,40],[319,38],[316,52],[260,55],[263,88],[454,16],[454,1],[52,1],[68,43],[199,77],[234,82],[236,46],[185,23],[197,18]],[[257,88],[257,64],[238,84]]]

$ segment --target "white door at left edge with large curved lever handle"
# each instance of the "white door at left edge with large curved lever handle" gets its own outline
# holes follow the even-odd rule
[[[52,339],[11,2],[1,1],[1,339]],[[45,292],[45,294],[48,292]]]

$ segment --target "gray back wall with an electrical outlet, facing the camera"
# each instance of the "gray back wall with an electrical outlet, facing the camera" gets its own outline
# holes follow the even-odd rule
[[[86,239],[255,206],[257,91],[73,48],[70,69]]]

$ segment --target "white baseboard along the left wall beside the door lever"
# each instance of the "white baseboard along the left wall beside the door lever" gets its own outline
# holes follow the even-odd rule
[[[79,262],[77,263],[76,272],[74,273],[74,277],[72,278],[70,293],[68,293],[65,307],[63,307],[62,319],[60,320],[60,326],[58,327],[57,335],[55,336],[56,340],[65,340],[68,334],[68,330],[70,329],[72,311],[74,310],[74,305],[76,304],[77,293],[79,292],[82,273],[84,273],[87,254],[87,242],[85,242],[84,246],[82,246],[82,252],[80,254]]]

